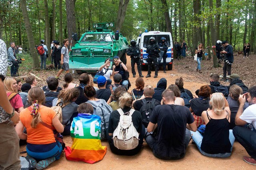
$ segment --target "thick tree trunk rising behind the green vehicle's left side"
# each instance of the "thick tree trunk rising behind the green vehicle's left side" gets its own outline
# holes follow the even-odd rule
[[[68,40],[71,43],[72,33],[76,32],[76,15],[75,15],[75,2],[76,0],[67,0],[67,27],[68,27]],[[74,40],[72,42],[75,43]]]

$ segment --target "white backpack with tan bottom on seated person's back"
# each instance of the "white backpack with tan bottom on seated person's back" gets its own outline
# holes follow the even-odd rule
[[[120,120],[113,133],[114,146],[121,150],[132,150],[139,144],[139,133],[132,123],[132,114],[135,110],[131,109],[127,115],[122,109],[117,111],[120,114]]]

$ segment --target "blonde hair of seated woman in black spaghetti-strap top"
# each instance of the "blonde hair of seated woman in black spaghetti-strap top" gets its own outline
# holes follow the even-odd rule
[[[214,110],[216,115],[220,115],[225,107],[225,97],[222,93],[213,93],[212,98],[210,99],[210,106]]]

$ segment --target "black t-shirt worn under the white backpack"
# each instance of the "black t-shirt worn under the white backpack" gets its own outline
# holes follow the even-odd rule
[[[124,107],[123,112],[129,112],[130,111],[130,107]],[[120,120],[120,114],[118,113],[118,111],[113,111],[110,114],[109,117],[109,123],[108,123],[108,132],[109,133],[113,133],[114,130],[117,128],[118,123]],[[140,114],[139,111],[134,111],[134,113],[132,114],[132,123],[133,126],[136,128],[137,132],[140,133],[142,130],[142,116]]]

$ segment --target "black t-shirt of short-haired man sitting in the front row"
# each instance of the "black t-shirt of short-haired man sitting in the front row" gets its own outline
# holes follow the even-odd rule
[[[158,124],[156,152],[164,157],[176,157],[186,152],[186,125],[194,122],[187,107],[180,105],[158,105],[149,117]]]

